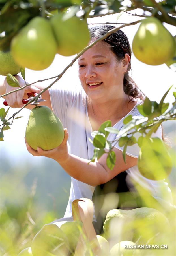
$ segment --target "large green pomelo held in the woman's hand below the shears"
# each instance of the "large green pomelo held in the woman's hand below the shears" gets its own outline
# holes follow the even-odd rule
[[[26,141],[31,148],[50,150],[58,147],[63,139],[63,125],[50,108],[37,106],[31,110],[26,127]]]

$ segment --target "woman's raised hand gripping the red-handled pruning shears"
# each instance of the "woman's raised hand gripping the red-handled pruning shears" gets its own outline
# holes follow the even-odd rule
[[[25,81],[19,75],[16,75],[15,77],[18,80],[18,82],[20,83],[21,87],[25,86]],[[10,86],[7,83],[6,78],[4,80],[4,84],[5,84],[5,87],[6,87],[6,92],[5,93],[8,93],[8,92],[11,92],[13,90],[18,89],[18,87]],[[26,94],[27,92],[40,93],[40,89],[38,89],[37,87],[35,87],[33,85],[29,85],[29,86],[25,87],[22,90],[19,90],[17,92],[13,92],[11,94],[8,94],[6,96],[8,106],[10,106],[11,108],[22,108],[24,106],[24,104],[22,102],[23,98],[26,98],[26,99],[28,98],[28,96]]]

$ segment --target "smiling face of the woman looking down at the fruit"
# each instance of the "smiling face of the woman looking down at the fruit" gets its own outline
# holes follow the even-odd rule
[[[122,96],[126,68],[123,61],[117,61],[109,44],[102,41],[95,44],[78,58],[78,65],[81,85],[92,100]]]

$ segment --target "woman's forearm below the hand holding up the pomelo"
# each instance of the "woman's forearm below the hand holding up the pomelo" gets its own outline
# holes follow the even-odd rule
[[[97,186],[104,183],[108,175],[106,169],[98,162],[90,162],[90,160],[69,154],[65,162],[59,164],[73,178],[87,183],[91,186]]]

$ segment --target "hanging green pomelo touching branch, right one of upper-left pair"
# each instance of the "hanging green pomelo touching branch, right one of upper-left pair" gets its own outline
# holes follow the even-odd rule
[[[51,18],[51,24],[58,45],[57,53],[60,55],[74,55],[88,45],[90,35],[85,20],[76,16],[67,18],[58,13]]]

